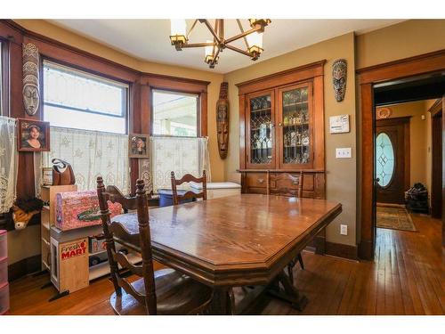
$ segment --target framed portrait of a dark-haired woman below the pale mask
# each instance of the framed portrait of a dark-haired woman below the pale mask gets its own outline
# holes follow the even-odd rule
[[[50,123],[17,118],[18,151],[50,151]]]

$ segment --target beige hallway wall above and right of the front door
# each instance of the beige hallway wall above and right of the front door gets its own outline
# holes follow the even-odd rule
[[[399,103],[386,107],[392,110],[390,118],[411,116],[409,118],[409,185],[413,186],[414,183],[420,182],[428,186],[427,180],[431,179],[431,170],[426,167],[428,149],[425,101]],[[425,119],[422,119],[422,116],[425,116]]]

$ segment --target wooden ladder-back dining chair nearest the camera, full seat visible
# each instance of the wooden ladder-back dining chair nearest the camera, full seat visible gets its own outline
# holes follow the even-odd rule
[[[136,182],[136,196],[125,197],[115,186],[105,188],[97,178],[97,195],[101,208],[101,221],[109,258],[111,281],[115,292],[109,302],[115,314],[200,314],[206,311],[212,298],[212,289],[174,269],[153,270],[151,253],[148,197],[142,180]],[[124,208],[137,210],[139,231],[128,231],[124,224],[128,216],[110,218],[108,201],[120,203]],[[115,240],[126,244],[139,244],[142,264],[130,263],[123,251],[116,251]],[[119,265],[140,277],[127,280]]]

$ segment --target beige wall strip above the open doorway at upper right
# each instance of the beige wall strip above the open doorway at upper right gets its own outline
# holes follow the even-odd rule
[[[445,20],[407,20],[357,37],[357,69],[445,48]]]

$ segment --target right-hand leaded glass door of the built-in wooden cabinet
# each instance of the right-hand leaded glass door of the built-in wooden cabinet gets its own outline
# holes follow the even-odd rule
[[[279,167],[312,166],[311,85],[279,90]]]

